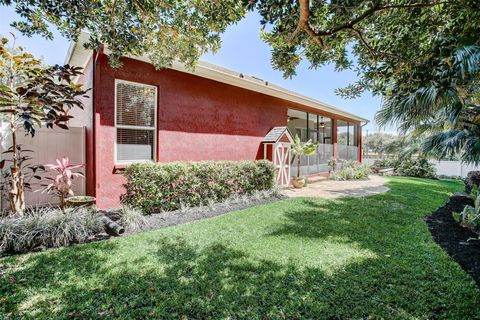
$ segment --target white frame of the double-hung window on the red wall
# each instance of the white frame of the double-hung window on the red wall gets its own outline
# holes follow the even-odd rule
[[[117,124],[117,97],[118,97],[118,84],[119,83],[126,83],[138,87],[149,87],[155,90],[155,107],[153,110],[153,127],[145,127],[145,126],[130,126],[130,125],[119,125]],[[157,109],[158,109],[158,87],[157,86],[152,86],[149,84],[145,83],[140,83],[140,82],[133,82],[133,81],[127,81],[127,80],[121,80],[121,79],[115,79],[115,107],[114,107],[114,118],[115,118],[115,137],[114,137],[114,159],[115,159],[115,164],[129,164],[129,163],[135,163],[135,162],[156,162],[157,161]],[[151,160],[118,160],[117,159],[117,129],[137,129],[137,130],[151,130],[153,131],[153,159]]]

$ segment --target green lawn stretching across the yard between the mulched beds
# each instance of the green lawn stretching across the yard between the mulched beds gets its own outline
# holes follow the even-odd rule
[[[480,291],[422,217],[455,181],[288,199],[0,260],[0,313],[31,318],[480,318]],[[10,278],[14,281],[11,283]]]

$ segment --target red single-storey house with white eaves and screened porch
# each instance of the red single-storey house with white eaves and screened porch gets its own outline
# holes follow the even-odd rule
[[[156,70],[134,57],[114,69],[105,54],[84,49],[87,39],[66,60],[85,68],[78,82],[92,88],[70,125],[86,127],[86,190],[99,208],[119,206],[128,163],[261,159],[262,139],[277,126],[321,143],[304,174],[327,172],[333,158],[361,161],[363,118],[209,64]]]

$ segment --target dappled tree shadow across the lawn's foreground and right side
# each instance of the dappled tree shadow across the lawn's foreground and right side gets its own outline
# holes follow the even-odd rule
[[[201,247],[180,237],[149,237],[148,252],[123,257],[119,241],[108,241],[9,259],[16,266],[5,276],[16,281],[2,283],[6,300],[0,311],[82,319],[478,318],[473,283],[425,232],[409,227],[423,212],[408,203],[391,208],[393,200],[412,198],[407,191],[414,190],[367,199],[304,199],[298,210],[285,213],[286,225],[266,235],[341,235],[377,253],[332,274],[262,260],[218,242]],[[382,211],[382,203],[391,206]],[[379,223],[384,215],[391,217]],[[347,223],[335,227],[340,218]],[[385,246],[394,254],[383,254]]]

